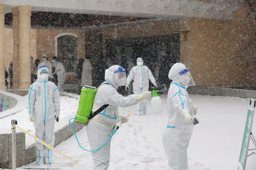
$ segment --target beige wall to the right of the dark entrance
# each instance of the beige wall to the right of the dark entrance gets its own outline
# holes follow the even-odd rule
[[[230,21],[183,20],[190,40],[181,41],[181,62],[197,85],[255,85],[255,20],[248,12],[242,8]]]

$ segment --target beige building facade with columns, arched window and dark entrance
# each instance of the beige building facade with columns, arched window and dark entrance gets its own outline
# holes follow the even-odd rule
[[[196,2],[206,4],[204,1]],[[0,65],[1,89],[5,89],[3,70],[9,67],[10,61],[13,61],[14,69],[13,87],[28,89],[30,56],[41,61],[43,55],[50,61],[57,56],[68,72],[66,81],[76,82],[78,59],[90,56],[94,66],[100,54],[108,64],[124,66],[128,60],[135,64],[136,58],[143,57],[151,69],[164,54],[168,62],[184,63],[196,85],[255,87],[256,22],[249,5],[241,4],[233,9],[232,17],[223,18],[223,15],[210,14],[202,17],[200,12],[186,16],[180,12],[175,17],[166,12],[168,17],[162,17],[165,13],[162,10],[159,17],[155,14],[159,5],[151,7],[154,9],[151,15],[150,9],[144,9],[148,15],[141,16],[138,6],[145,7],[145,4],[137,4],[135,9],[126,13],[121,11],[125,11],[121,7],[113,16],[109,14],[114,11],[110,7],[102,15],[103,2],[100,1],[98,10],[89,4],[87,8],[94,10],[91,12],[94,14],[86,9],[86,15],[85,11],[83,15],[79,13],[78,7],[66,11],[59,11],[61,8],[56,7],[54,11],[42,4],[42,9],[48,11],[40,12],[31,2],[28,5],[15,4],[14,1],[8,3],[1,4],[0,1],[0,37],[4,37],[0,40],[0,59],[4,61]],[[11,7],[10,3],[13,3]],[[61,18],[64,14],[68,19],[63,18],[63,25],[61,20],[52,19]],[[35,19],[42,15],[45,16],[42,20]],[[49,23],[43,22],[44,18],[48,18]]]

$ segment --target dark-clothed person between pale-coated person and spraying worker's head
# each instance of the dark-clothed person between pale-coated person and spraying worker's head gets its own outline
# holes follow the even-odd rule
[[[95,64],[96,69],[96,87],[99,87],[99,85],[104,82],[104,72],[105,69],[107,69],[106,60],[104,59],[104,56],[102,54],[99,55],[99,59],[97,60]]]

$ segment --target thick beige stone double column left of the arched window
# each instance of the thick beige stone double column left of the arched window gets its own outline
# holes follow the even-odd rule
[[[31,6],[12,8],[13,13],[13,88],[30,87]]]

